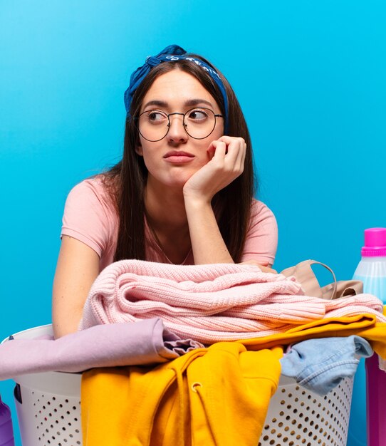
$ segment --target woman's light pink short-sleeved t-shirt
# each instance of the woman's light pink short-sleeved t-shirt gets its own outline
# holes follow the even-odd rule
[[[273,264],[278,243],[275,216],[262,202],[251,204],[251,224],[241,261],[256,260]],[[118,214],[105,192],[100,177],[90,178],[73,187],[68,194],[63,214],[61,235],[80,240],[100,258],[100,271],[113,263],[118,239]],[[148,261],[171,263],[158,246],[145,224],[145,257]],[[192,251],[183,264],[194,264]]]

